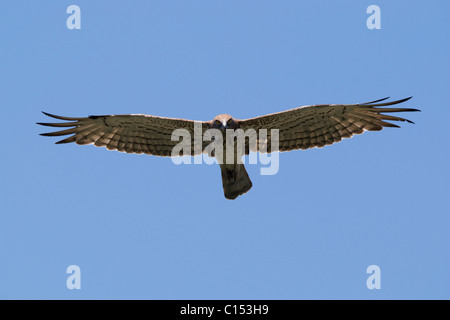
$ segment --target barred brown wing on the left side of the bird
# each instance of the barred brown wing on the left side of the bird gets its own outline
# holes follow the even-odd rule
[[[43,136],[72,136],[57,143],[76,142],[77,144],[94,144],[106,147],[108,150],[118,150],[127,153],[146,153],[155,156],[171,156],[172,149],[183,142],[181,146],[189,147],[189,154],[197,155],[203,151],[203,132],[209,128],[207,122],[185,119],[163,118],[143,114],[89,116],[87,118],[69,118],[45,115],[68,122],[38,123],[43,126],[66,128],[62,131],[43,133]],[[194,139],[195,130],[201,130],[200,139]],[[198,129],[197,129],[198,128]],[[176,129],[185,129],[179,139],[172,141],[172,133]],[[187,133],[190,139],[187,139]],[[186,149],[187,150],[187,149]],[[186,152],[188,153],[188,152]]]

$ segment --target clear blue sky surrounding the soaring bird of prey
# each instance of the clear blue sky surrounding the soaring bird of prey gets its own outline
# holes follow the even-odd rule
[[[2,2],[0,298],[449,299],[449,9]],[[35,124],[42,110],[210,120],[385,96],[414,96],[416,124],[282,153],[274,176],[248,165],[235,201],[217,166],[54,145]]]

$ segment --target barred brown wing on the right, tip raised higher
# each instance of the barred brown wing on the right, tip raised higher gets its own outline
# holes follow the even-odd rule
[[[360,104],[329,104],[303,106],[283,112],[273,113],[261,117],[238,120],[240,128],[244,131],[254,129],[258,133],[260,129],[267,129],[267,140],[258,134],[258,141],[250,145],[251,151],[266,152],[262,146],[266,146],[267,152],[271,150],[272,136],[271,129],[279,130],[279,151],[291,151],[297,149],[322,148],[326,145],[341,141],[343,138],[350,138],[355,134],[364,131],[379,131],[383,127],[399,127],[389,121],[410,120],[385,115],[391,112],[420,111],[411,108],[384,108],[405,102],[411,97],[382,102],[388,98],[360,103]]]

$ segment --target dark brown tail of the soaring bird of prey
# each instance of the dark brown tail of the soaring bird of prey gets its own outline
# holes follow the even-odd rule
[[[226,168],[220,165],[222,171],[222,184],[225,198],[229,200],[236,199],[238,196],[246,193],[253,186],[247,170],[243,164],[235,164],[234,168]]]

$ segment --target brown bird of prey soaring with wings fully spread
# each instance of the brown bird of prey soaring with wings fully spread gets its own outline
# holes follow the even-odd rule
[[[67,128],[61,131],[42,133],[42,136],[65,136],[65,139],[57,144],[75,142],[80,145],[94,144],[97,147],[106,147],[108,150],[119,152],[148,154],[153,156],[195,156],[207,153],[220,160],[222,173],[222,186],[226,199],[236,199],[252,188],[252,182],[241,161],[237,157],[253,152],[270,153],[273,151],[306,150],[310,148],[322,148],[326,145],[339,142],[344,138],[351,138],[355,134],[364,131],[380,131],[384,127],[399,127],[389,121],[405,121],[413,123],[405,118],[400,118],[386,113],[420,111],[412,108],[392,108],[412,97],[386,101],[383,98],[371,102],[358,104],[322,104],[305,105],[287,111],[263,115],[255,118],[240,120],[229,114],[221,114],[211,121],[193,121],[178,118],[158,117],[146,114],[123,115],[98,115],[84,118],[62,117],[43,112],[46,116],[64,120],[65,122],[37,124],[56,128]],[[257,135],[256,143],[245,142],[243,152],[235,153],[233,161],[226,162],[223,153],[221,155],[207,151],[211,143],[204,140],[190,138],[185,143],[189,148],[183,149],[182,154],[174,154],[174,148],[179,144],[173,139],[176,130],[195,135],[196,128],[205,134],[208,130],[215,129],[223,135],[225,132],[241,129],[278,130],[278,135]],[[272,150],[277,138],[277,148]],[[212,139],[214,140],[214,139]],[[225,142],[223,142],[225,146]],[[261,146],[264,146],[262,148]],[[187,151],[186,151],[187,150]],[[220,158],[220,159],[219,159]]]

